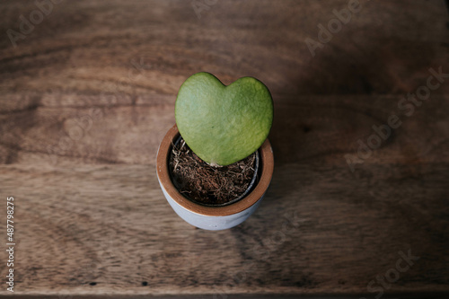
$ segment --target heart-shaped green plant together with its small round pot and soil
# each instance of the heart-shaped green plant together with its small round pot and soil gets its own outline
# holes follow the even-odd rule
[[[165,198],[198,228],[241,224],[259,207],[273,174],[268,88],[252,77],[225,86],[208,73],[191,75],[180,86],[175,119],[157,153]]]

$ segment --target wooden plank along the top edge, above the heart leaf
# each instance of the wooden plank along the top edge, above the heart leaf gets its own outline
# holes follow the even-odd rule
[[[278,94],[402,94],[425,82],[429,67],[448,65],[443,1],[363,5],[312,57],[304,40],[317,40],[318,24],[347,0],[220,2],[199,20],[189,1],[64,2],[16,48],[0,40],[0,88],[176,94],[203,70],[226,84],[256,76]],[[35,9],[4,6],[2,31],[18,30],[18,17]]]

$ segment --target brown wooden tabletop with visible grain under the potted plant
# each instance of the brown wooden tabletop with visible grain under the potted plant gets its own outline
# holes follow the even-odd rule
[[[449,296],[444,1],[42,3],[0,4],[2,296],[7,197],[19,297]],[[199,71],[275,101],[269,192],[221,232],[175,215],[154,170]]]

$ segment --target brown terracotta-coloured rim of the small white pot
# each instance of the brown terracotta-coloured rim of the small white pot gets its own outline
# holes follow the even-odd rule
[[[163,137],[161,145],[157,151],[156,172],[157,177],[168,195],[181,207],[199,215],[208,216],[225,216],[240,213],[254,205],[262,198],[267,189],[274,171],[273,150],[267,138],[260,146],[260,180],[257,186],[244,198],[224,207],[207,207],[202,206],[185,198],[180,194],[178,189],[173,185],[169,171],[169,154],[172,150],[172,141],[180,135],[178,126],[175,124]]]

